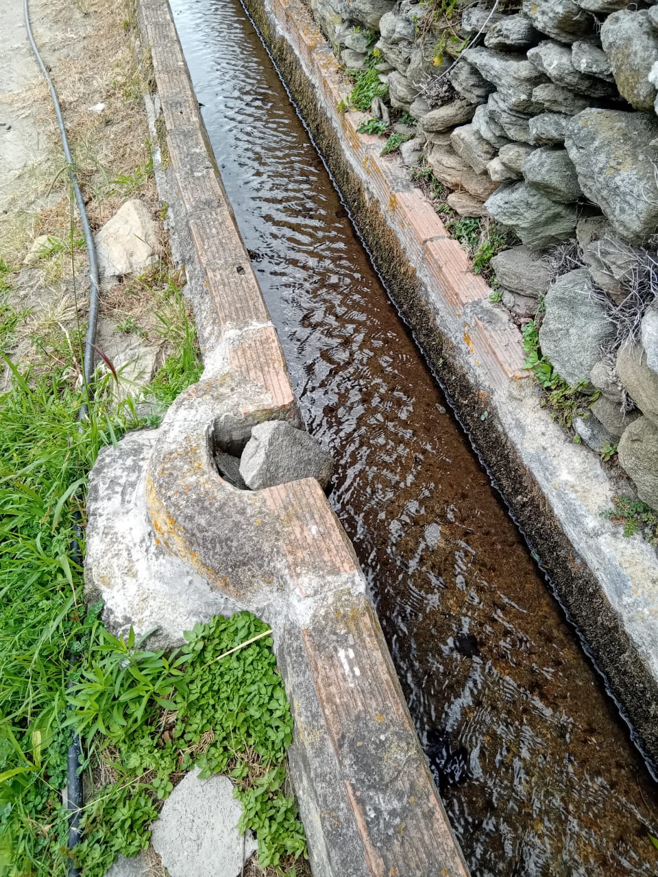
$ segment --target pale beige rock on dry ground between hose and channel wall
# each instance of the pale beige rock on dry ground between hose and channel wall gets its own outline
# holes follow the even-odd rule
[[[133,198],[97,232],[96,250],[101,275],[109,282],[140,274],[158,258],[157,227],[150,210]]]

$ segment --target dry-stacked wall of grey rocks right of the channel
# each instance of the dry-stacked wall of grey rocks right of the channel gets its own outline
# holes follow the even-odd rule
[[[506,5],[311,0],[345,67],[375,63],[413,118],[396,126],[403,164],[519,239],[492,260],[504,306],[541,322],[565,381],[600,393],[576,431],[619,445],[658,509],[658,6]]]

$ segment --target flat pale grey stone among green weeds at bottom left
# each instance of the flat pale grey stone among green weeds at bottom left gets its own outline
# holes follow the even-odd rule
[[[241,811],[228,777],[184,776],[153,826],[162,866],[171,877],[238,877],[258,847],[250,831],[244,838],[236,831]]]

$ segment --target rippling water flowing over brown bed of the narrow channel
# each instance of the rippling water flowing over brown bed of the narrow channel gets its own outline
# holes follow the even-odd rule
[[[172,6],[304,421],[337,462],[333,506],[474,877],[658,872],[656,786],[253,26],[238,0]]]

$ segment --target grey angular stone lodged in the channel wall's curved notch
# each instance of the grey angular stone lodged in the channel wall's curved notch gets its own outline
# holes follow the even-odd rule
[[[240,475],[252,490],[315,478],[326,488],[333,474],[329,453],[308,432],[283,420],[254,426],[240,459]]]

